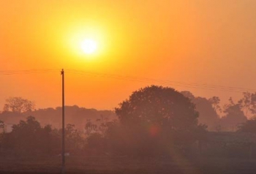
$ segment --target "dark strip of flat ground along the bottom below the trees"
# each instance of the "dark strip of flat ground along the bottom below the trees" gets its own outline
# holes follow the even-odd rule
[[[0,173],[60,173],[61,158],[58,156],[34,158],[0,157]],[[66,173],[78,174],[243,174],[256,173],[255,159],[167,159],[110,156],[69,156],[66,160]]]

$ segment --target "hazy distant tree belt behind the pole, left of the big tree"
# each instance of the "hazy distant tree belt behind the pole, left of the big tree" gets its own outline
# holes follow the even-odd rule
[[[61,123],[59,116],[61,115],[61,107],[56,108],[45,108],[37,109],[32,111],[27,111],[23,113],[17,112],[2,112],[0,113],[0,120],[5,123],[14,124],[18,123],[20,120],[26,120],[27,116],[34,116],[40,121],[41,125],[50,124],[55,128],[60,129]],[[83,130],[86,124],[86,120],[91,120],[94,123],[96,119],[109,118],[109,120],[116,118],[116,114],[111,110],[94,110],[87,109],[85,107],[65,106],[65,119],[68,124],[74,124],[75,129]],[[97,121],[97,126],[102,121]],[[95,124],[95,123],[94,123]]]

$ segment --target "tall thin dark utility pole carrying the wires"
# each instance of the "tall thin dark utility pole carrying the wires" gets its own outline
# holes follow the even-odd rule
[[[65,173],[65,103],[64,103],[64,69],[61,70],[62,75],[62,166],[61,173]]]

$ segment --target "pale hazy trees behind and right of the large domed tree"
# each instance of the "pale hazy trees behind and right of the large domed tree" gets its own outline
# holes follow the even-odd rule
[[[189,91],[181,91],[181,94],[196,105],[196,110],[200,113],[199,123],[206,124],[211,131],[235,131],[239,124],[256,114],[256,93],[244,92],[238,102],[230,97],[223,107],[219,97],[195,97]]]

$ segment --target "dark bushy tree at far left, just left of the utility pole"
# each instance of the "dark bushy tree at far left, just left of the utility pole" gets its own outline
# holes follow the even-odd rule
[[[59,148],[60,141],[53,136],[50,125],[41,127],[32,116],[26,121],[12,126],[12,132],[4,132],[1,137],[1,146],[10,148],[15,154],[49,154]]]

